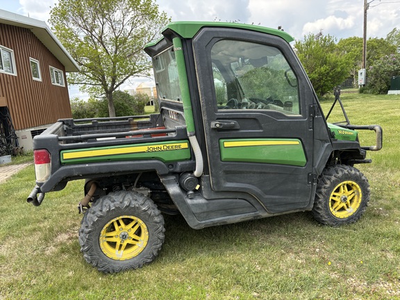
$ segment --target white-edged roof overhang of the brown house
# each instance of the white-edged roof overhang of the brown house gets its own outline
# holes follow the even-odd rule
[[[28,28],[36,38],[65,66],[65,72],[80,71],[78,64],[43,21],[0,9],[0,24]]]

